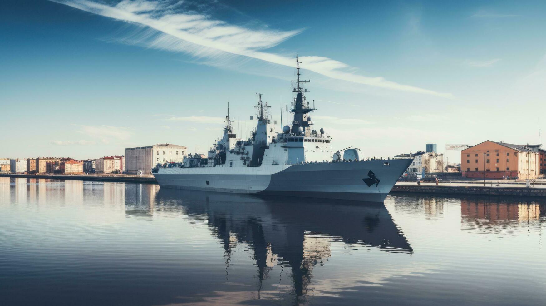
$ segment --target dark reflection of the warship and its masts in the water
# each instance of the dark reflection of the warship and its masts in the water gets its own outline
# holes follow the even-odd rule
[[[312,270],[331,256],[332,240],[387,251],[412,251],[384,205],[344,205],[327,200],[308,202],[168,189],[159,190],[157,199],[159,211],[182,207],[188,219],[209,223],[223,244],[227,267],[235,244],[247,244],[258,268],[258,297],[272,268],[281,265],[290,267],[292,272],[290,295],[295,296],[296,303],[305,302],[312,291]]]

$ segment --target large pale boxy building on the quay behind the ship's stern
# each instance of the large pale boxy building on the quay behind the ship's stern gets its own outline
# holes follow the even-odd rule
[[[188,148],[175,144],[156,144],[125,149],[125,169],[128,174],[151,174],[158,163],[183,162]]]

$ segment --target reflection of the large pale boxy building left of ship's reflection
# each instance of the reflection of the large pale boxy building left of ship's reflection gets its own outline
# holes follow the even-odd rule
[[[125,184],[126,216],[151,220],[158,191],[159,185],[156,184]]]

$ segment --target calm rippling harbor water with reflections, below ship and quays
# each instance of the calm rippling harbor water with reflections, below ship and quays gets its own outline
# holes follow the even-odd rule
[[[0,304],[534,304],[546,205],[0,178]],[[543,246],[544,245],[544,246]]]

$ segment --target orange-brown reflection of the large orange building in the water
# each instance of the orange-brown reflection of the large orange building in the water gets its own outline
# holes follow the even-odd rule
[[[483,220],[495,224],[538,220],[541,213],[544,214],[544,208],[544,204],[539,202],[518,203],[498,198],[461,198],[461,221]]]

